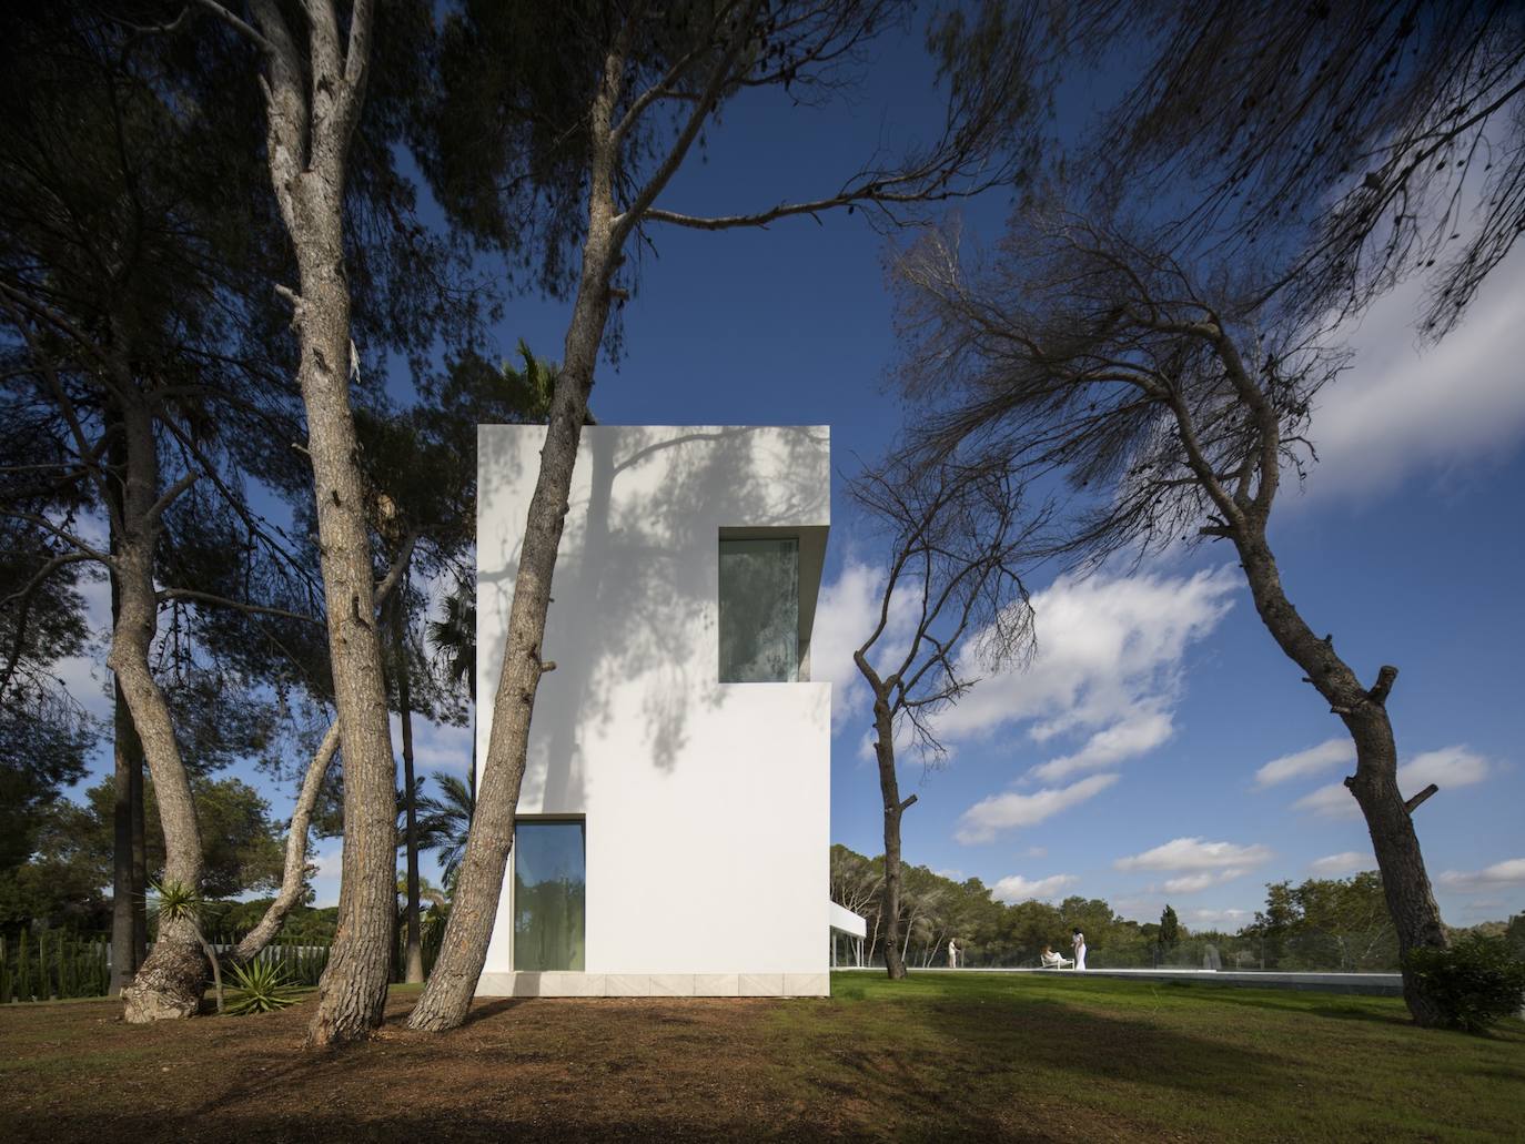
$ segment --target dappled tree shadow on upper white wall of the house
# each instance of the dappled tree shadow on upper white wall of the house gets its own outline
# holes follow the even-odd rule
[[[538,441],[531,432],[482,435],[485,513],[502,511],[493,490],[534,480]],[[541,650],[557,671],[540,696],[557,702],[537,703],[526,802],[547,813],[586,805],[584,744],[608,729],[637,683],[642,735],[628,744],[631,763],[677,766],[692,712],[727,696],[715,631],[720,529],[824,520],[825,444],[808,427],[584,432],[552,587],[563,603],[551,606]],[[517,535],[522,525],[512,523],[508,534]],[[479,554],[479,609],[496,619],[482,645],[494,688],[517,563],[517,549]]]

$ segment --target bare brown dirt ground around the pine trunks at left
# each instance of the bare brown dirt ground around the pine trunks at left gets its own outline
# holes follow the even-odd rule
[[[865,1109],[843,1121],[837,1094],[775,1075],[759,1027],[778,1001],[503,999],[444,1037],[401,1027],[412,1002],[393,993],[374,1042],[325,1056],[300,1051],[305,1005],[154,1028],[108,1001],[5,1007],[0,1139],[860,1135]]]

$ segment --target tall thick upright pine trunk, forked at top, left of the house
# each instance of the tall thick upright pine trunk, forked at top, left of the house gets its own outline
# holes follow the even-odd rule
[[[307,1043],[322,1048],[381,1023],[396,912],[396,764],[387,725],[381,641],[372,610],[366,496],[355,464],[343,194],[349,139],[364,99],[369,0],[349,15],[348,46],[332,3],[305,6],[308,52],[274,0],[253,0],[264,37],[265,151],[270,182],[296,252],[300,294],[291,296],[300,343],[297,381],[307,407],[308,455],[328,609],[328,648],[345,750],[345,847],[339,926]]]

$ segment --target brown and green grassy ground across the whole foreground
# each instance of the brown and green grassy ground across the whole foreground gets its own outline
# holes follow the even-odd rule
[[[833,976],[830,1001],[491,1001],[429,1037],[393,988],[366,1045],[308,1005],[130,1028],[0,1007],[0,1139],[1520,1139],[1525,1022],[1080,975]]]

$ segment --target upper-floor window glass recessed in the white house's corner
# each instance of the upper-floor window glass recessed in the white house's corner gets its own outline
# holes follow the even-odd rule
[[[799,679],[799,541],[720,541],[720,682]]]

